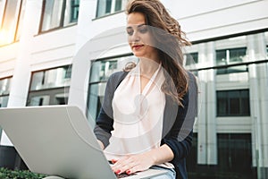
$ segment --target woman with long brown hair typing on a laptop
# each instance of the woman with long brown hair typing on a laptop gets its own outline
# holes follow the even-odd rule
[[[129,45],[139,61],[109,78],[96,138],[115,174],[154,167],[167,171],[160,178],[187,178],[194,120],[187,115],[197,86],[182,66],[181,50],[190,43],[158,0],[132,0],[126,13]]]

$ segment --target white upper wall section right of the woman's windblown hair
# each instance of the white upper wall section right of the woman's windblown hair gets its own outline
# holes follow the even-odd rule
[[[190,40],[267,28],[268,1],[179,2],[172,5],[172,14]]]

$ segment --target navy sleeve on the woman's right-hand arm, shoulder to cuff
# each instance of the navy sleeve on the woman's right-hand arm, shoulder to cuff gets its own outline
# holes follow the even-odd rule
[[[172,163],[178,163],[181,158],[186,158],[192,144],[193,125],[197,116],[197,81],[192,73],[189,74],[188,93],[183,98],[184,107],[179,107],[176,121],[172,129],[163,140],[172,149],[174,158]]]

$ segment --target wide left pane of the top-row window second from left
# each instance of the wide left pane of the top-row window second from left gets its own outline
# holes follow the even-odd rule
[[[60,27],[63,12],[63,0],[46,0],[41,31]]]

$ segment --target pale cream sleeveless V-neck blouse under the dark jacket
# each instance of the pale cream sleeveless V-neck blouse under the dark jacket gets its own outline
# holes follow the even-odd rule
[[[121,81],[113,96],[114,130],[105,149],[107,159],[160,147],[165,106],[163,81],[161,64],[142,92],[139,64]]]

